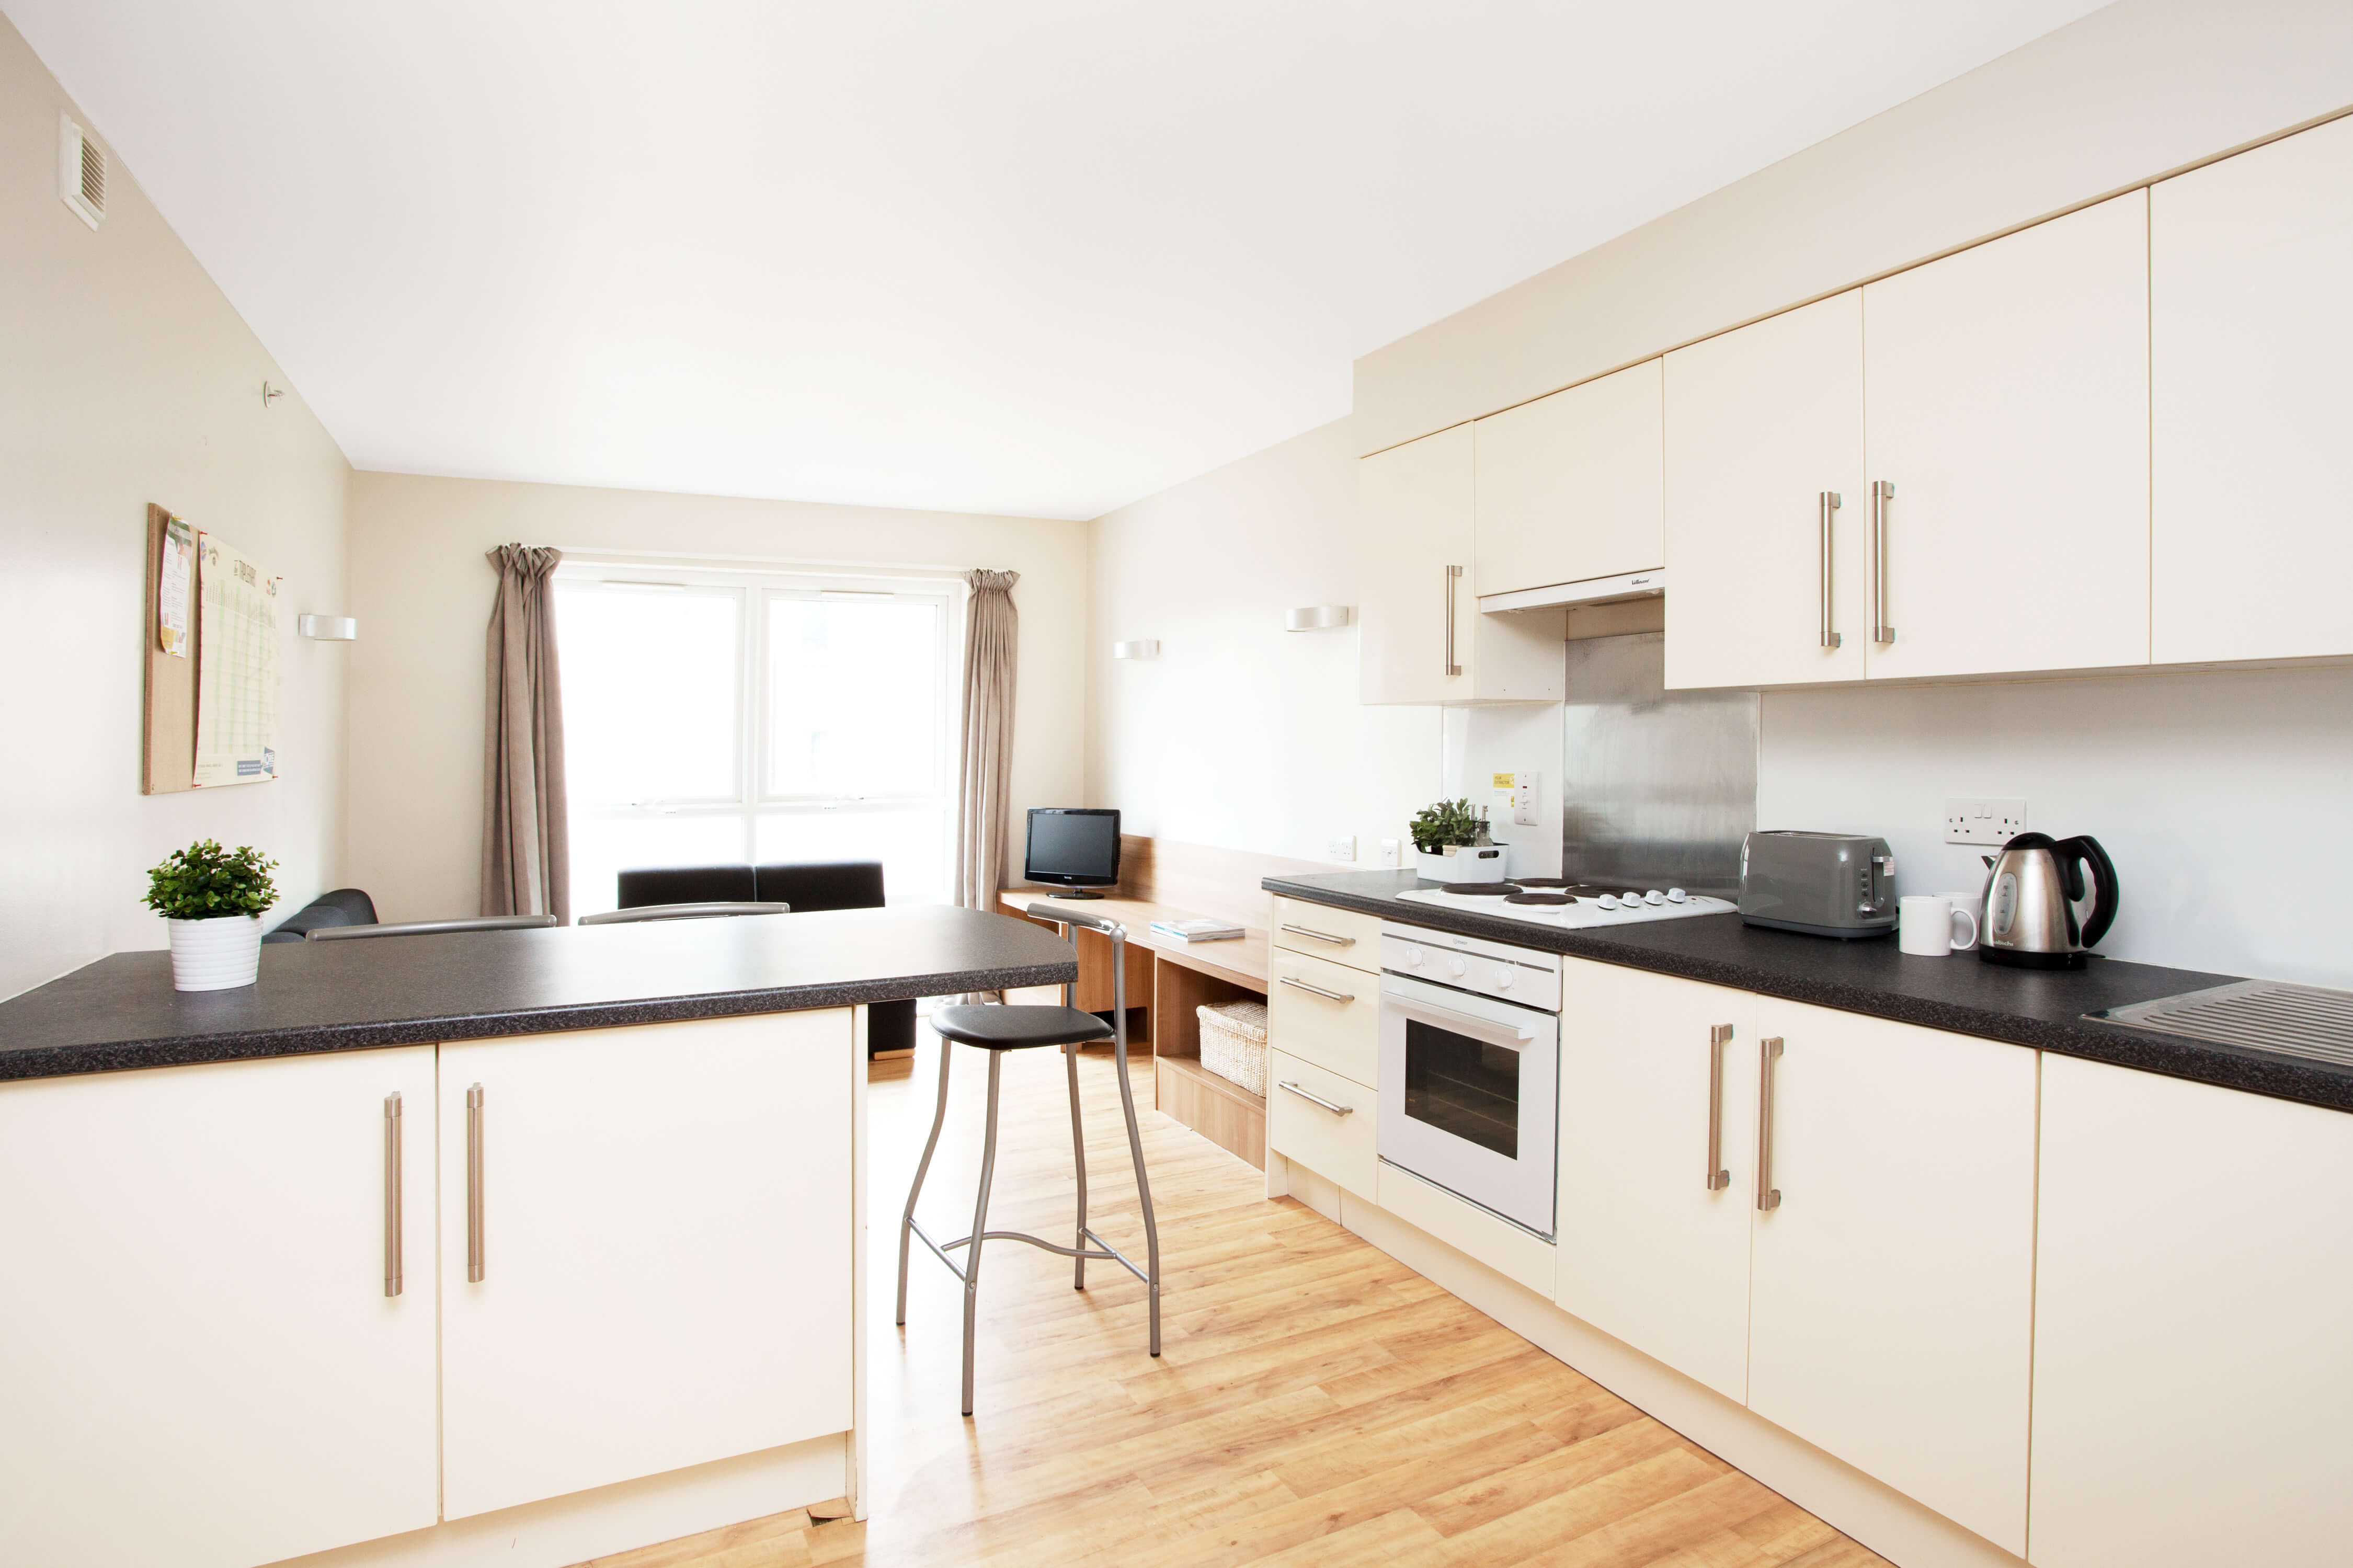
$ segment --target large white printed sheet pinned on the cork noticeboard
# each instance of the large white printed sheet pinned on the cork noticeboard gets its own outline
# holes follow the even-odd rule
[[[278,777],[278,591],[252,556],[195,534],[195,786]]]

